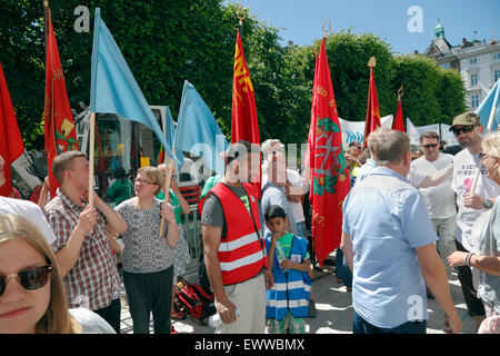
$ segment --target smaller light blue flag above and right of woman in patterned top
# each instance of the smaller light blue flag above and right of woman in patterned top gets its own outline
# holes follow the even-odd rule
[[[182,89],[173,147],[201,157],[204,166],[219,175],[224,174],[221,154],[229,147],[226,136],[207,103],[187,80]]]

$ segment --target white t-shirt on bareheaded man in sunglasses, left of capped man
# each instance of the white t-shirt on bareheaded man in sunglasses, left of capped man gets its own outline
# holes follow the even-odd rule
[[[453,156],[440,154],[438,159],[429,161],[424,156],[411,162],[410,171],[414,170],[424,176],[432,176],[448,167],[453,161]],[[451,177],[437,187],[420,188],[427,200],[427,208],[431,219],[447,219],[457,214],[454,206],[454,192],[451,189]]]

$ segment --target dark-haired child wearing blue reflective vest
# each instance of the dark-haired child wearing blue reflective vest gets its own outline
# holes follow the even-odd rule
[[[311,279],[308,276],[308,240],[284,230],[287,215],[276,205],[264,214],[269,269],[274,286],[267,290],[266,317],[272,334],[306,334]]]

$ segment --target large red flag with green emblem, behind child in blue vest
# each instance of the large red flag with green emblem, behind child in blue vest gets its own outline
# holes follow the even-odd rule
[[[342,202],[350,187],[324,38],[314,78],[313,120],[309,128],[312,137],[310,194],[312,241],[318,261],[322,265],[328,255],[340,246]]]

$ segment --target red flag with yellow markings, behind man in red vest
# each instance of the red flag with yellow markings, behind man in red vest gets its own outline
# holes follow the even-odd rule
[[[256,98],[250,80],[240,30],[234,50],[234,72],[232,78],[232,118],[231,144],[246,140],[260,146],[259,120],[257,118]],[[251,184],[260,198],[261,187],[259,177],[252,177]]]

